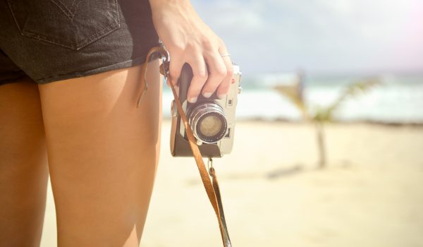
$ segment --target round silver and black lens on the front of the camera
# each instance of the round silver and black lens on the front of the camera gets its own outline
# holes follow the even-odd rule
[[[214,102],[197,104],[188,113],[192,131],[203,143],[216,143],[228,128],[223,109]]]

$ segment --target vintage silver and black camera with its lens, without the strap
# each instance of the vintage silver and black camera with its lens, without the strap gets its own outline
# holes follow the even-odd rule
[[[200,94],[197,102],[190,103],[187,99],[187,92],[192,80],[192,68],[189,64],[184,64],[182,68],[178,80],[178,98],[204,157],[222,157],[232,150],[235,107],[238,102],[238,94],[242,90],[240,78],[240,68],[234,64],[233,77],[226,97],[219,99],[216,92],[209,98]],[[175,102],[172,102],[171,114],[171,154],[174,157],[192,157],[185,127]]]

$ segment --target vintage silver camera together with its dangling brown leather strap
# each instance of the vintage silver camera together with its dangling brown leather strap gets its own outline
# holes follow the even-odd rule
[[[189,102],[187,95],[192,83],[192,68],[189,64],[184,64],[178,83],[176,83],[179,85],[176,90],[175,83],[168,77],[168,52],[164,47],[150,49],[147,61],[153,57],[152,54],[157,53],[164,56],[164,63],[160,71],[170,80],[168,84],[171,86],[174,97],[171,109],[171,153],[173,156],[194,157],[210,203],[216,212],[223,246],[231,247],[212,158],[221,157],[232,150],[235,107],[238,102],[238,93],[241,91],[240,69],[233,65],[234,73],[231,75],[228,95],[217,97],[215,90],[213,94],[200,96],[195,102]],[[147,90],[147,84],[144,88]],[[140,98],[138,102],[140,102]],[[204,165],[203,156],[209,158],[209,171]]]

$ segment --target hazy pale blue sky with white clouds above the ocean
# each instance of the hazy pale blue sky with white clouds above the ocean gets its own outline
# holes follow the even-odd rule
[[[423,73],[422,0],[192,0],[243,73]]]

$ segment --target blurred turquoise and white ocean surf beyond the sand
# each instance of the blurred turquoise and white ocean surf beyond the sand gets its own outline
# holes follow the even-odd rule
[[[243,76],[243,91],[238,95],[238,120],[301,121],[299,110],[273,89],[289,85],[295,74],[269,73]],[[372,77],[375,78],[375,77]],[[327,107],[338,99],[346,85],[365,79],[359,76],[310,76],[304,79],[304,100],[310,111]],[[349,97],[333,114],[335,121],[372,121],[380,123],[423,123],[423,75],[376,76],[378,85]],[[164,117],[170,117],[173,95],[164,87]]]

